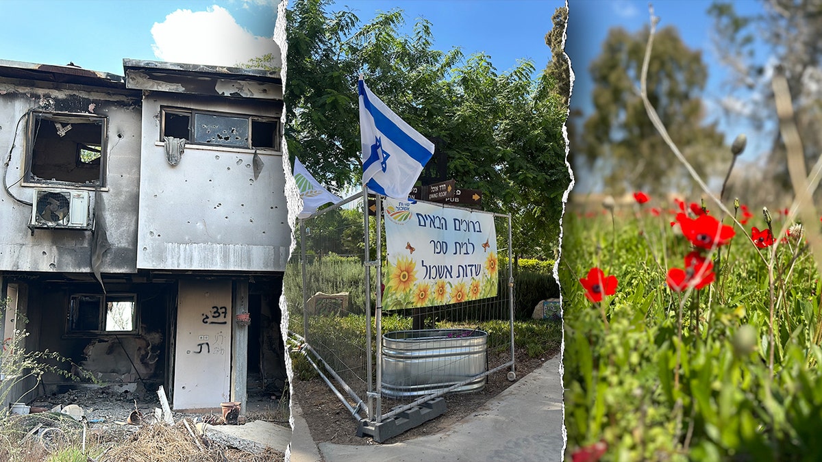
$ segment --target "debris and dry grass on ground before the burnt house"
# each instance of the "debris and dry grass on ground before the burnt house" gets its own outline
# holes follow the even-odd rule
[[[32,413],[0,418],[0,460],[87,460],[88,462],[281,462],[282,450],[258,446],[249,451],[245,440],[229,436],[219,441],[206,432],[209,425],[224,425],[219,414],[180,417],[169,408],[162,387],[159,403],[106,404],[95,393],[72,391],[59,396],[62,404],[26,406]],[[50,397],[48,401],[54,401]],[[48,404],[43,402],[41,404]],[[90,409],[102,407],[90,412]],[[84,409],[85,408],[85,409]],[[153,408],[153,409],[152,409]],[[237,410],[237,409],[231,409]],[[236,412],[235,412],[236,414]],[[236,416],[229,416],[236,417]],[[197,422],[199,421],[199,422]],[[262,422],[261,422],[262,423]],[[239,427],[238,427],[239,428]],[[279,446],[279,445],[277,445]],[[242,448],[236,449],[236,448]],[[279,447],[278,447],[279,449]],[[79,457],[83,457],[80,459]]]

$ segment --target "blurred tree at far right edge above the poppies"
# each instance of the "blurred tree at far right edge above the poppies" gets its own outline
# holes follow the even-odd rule
[[[787,78],[795,121],[806,160],[815,162],[822,151],[822,2],[819,0],[760,0],[762,12],[737,14],[732,2],[714,2],[718,56],[731,72],[727,115],[752,122],[769,132],[770,182],[787,189],[787,162],[777,130],[777,114],[770,76],[776,66]]]

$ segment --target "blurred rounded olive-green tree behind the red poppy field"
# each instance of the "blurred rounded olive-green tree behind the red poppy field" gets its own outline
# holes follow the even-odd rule
[[[629,187],[663,192],[690,186],[640,99],[648,37],[647,27],[635,33],[613,28],[590,66],[593,113],[584,122],[577,151],[603,173],[604,186],[616,193]],[[725,152],[715,123],[704,122],[700,92],[706,79],[700,51],[689,49],[676,28],[658,30],[649,62],[648,97],[673,141],[703,177],[722,174],[713,167]]]

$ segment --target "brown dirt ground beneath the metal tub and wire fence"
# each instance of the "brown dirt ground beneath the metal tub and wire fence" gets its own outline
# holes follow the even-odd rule
[[[529,358],[524,349],[515,350],[515,367],[517,378],[524,377],[537,367],[541,366],[556,353],[546,354],[542,358]],[[492,358],[489,358],[489,367],[495,367]],[[414,437],[435,434],[446,430],[460,419],[469,416],[478,407],[485,404],[502,390],[505,390],[515,382],[508,381],[506,377],[510,369],[506,368],[488,376],[485,388],[474,393],[459,393],[446,395],[446,413],[429,420],[418,427],[410,429],[408,432],[397,435],[383,441],[385,444],[405,441]],[[320,378],[310,381],[300,381],[294,377],[295,400],[302,409],[303,417],[308,423],[312,438],[317,443],[334,442],[344,445],[371,445],[379,444],[370,437],[358,437],[358,422],[353,418],[348,409],[339,401],[326,382]],[[383,409],[390,409],[396,404],[383,402]],[[383,411],[385,412],[385,410]]]

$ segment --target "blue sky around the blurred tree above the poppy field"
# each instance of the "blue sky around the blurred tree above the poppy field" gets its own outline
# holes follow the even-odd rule
[[[739,118],[722,117],[720,101],[727,97],[727,70],[718,62],[713,44],[713,19],[707,11],[713,0],[665,0],[653,2],[654,15],[660,18],[658,28],[675,25],[683,41],[691,49],[702,50],[702,58],[708,67],[708,82],[703,94],[708,120],[718,120],[719,128],[725,133],[730,146],[739,132],[748,135],[748,146],[742,160],[754,161],[769,148],[772,137],[757,134],[746,122]],[[761,12],[761,2],[739,0],[734,2],[739,14]],[[568,39],[566,53],[571,59],[575,72],[574,92],[571,106],[590,113],[593,104],[590,91],[593,84],[589,78],[588,67],[597,57],[607,31],[614,26],[635,31],[649,24],[647,0],[570,0]],[[577,175],[575,189],[585,190],[590,187],[589,181]]]

